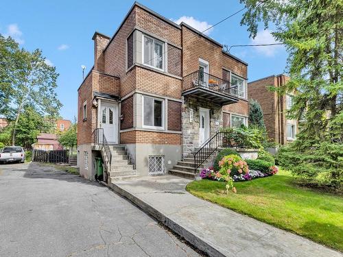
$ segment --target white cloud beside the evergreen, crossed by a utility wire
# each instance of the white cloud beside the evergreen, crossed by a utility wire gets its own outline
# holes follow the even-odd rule
[[[273,44],[276,43],[274,37],[270,33],[269,29],[260,30],[257,32],[257,36],[251,40],[252,45],[259,44]],[[283,49],[283,45],[267,45],[263,47],[254,47],[254,49],[265,56],[273,57],[275,54]]]

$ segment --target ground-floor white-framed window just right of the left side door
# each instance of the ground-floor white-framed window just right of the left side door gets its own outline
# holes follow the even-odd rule
[[[163,129],[164,101],[153,97],[143,97],[143,126]]]

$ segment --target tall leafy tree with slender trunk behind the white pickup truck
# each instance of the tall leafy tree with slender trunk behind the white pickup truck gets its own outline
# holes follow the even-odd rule
[[[1,44],[3,42],[8,43],[8,40],[3,40],[1,36]],[[8,44],[13,45],[13,42],[10,41]],[[8,118],[14,121],[12,124],[12,145],[14,145],[18,122],[25,106],[32,106],[42,115],[55,117],[62,104],[55,92],[58,73],[55,67],[45,62],[42,51],[36,49],[29,52],[17,46],[10,49],[12,51],[5,51],[10,57],[5,58],[0,74],[9,73],[5,85],[10,85],[11,90],[9,93],[5,91],[7,94],[5,98],[10,109]],[[13,66],[13,69],[5,69],[3,66],[7,64]]]

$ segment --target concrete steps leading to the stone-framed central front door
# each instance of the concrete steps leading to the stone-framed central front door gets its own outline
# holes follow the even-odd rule
[[[192,154],[189,154],[183,158],[183,160],[179,160],[178,164],[174,165],[173,169],[169,169],[169,174],[196,180],[201,169],[211,166],[213,162],[212,160],[213,158],[210,156],[203,164],[200,165],[196,173],[194,173],[194,157]]]

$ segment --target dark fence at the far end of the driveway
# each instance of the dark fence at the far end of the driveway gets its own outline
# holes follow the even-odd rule
[[[32,151],[32,161],[34,162],[52,162],[68,163],[69,150],[45,151],[35,149]]]

